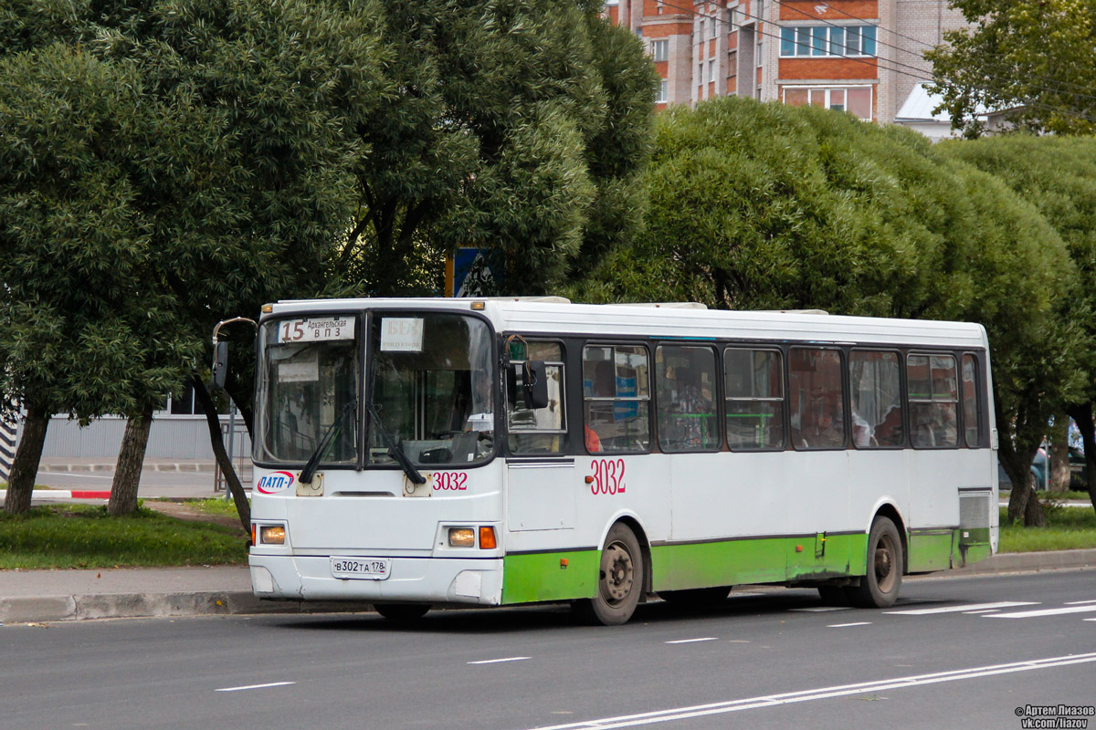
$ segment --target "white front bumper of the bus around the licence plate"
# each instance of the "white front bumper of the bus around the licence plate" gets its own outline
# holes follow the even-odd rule
[[[502,558],[392,557],[385,580],[334,578],[330,556],[248,557],[251,586],[261,599],[420,602],[499,605]]]

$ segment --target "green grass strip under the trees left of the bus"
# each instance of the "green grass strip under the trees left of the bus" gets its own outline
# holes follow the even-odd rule
[[[0,569],[238,565],[247,563],[243,530],[179,520],[140,508],[110,517],[105,507],[35,507],[0,513]]]

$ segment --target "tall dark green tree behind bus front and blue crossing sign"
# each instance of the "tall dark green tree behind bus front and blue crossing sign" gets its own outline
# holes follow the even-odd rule
[[[648,153],[655,76],[600,3],[386,3],[386,78],[354,125],[358,208],[342,291],[434,293],[445,253],[501,252],[505,291],[562,281],[584,250],[626,237]],[[585,242],[585,243],[584,243]]]

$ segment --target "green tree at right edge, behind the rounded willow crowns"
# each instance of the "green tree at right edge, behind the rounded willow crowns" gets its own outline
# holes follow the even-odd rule
[[[1076,347],[1065,368],[1080,380],[1058,407],[1077,424],[1085,445],[1088,491],[1096,508],[1096,139],[1009,135],[940,147],[948,157],[993,174],[1030,201],[1061,235],[1077,273],[1076,286],[1060,292],[1061,325],[1075,331]]]

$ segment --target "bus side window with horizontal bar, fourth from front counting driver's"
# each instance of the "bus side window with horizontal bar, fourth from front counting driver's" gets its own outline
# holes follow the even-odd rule
[[[784,449],[784,368],[779,350],[723,350],[727,442],[732,451]]]

